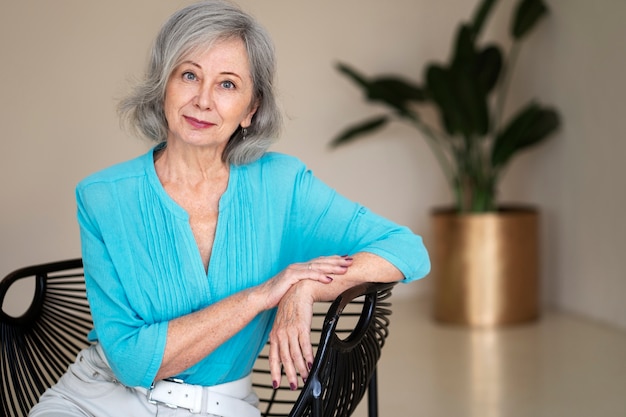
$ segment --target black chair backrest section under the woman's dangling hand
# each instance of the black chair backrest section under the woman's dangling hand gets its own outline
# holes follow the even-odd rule
[[[378,415],[376,364],[388,336],[394,284],[365,283],[321,303],[314,313],[311,340],[318,340],[309,378],[299,392],[285,378],[268,384],[267,347],[259,355],[253,381],[264,417],[347,417],[368,391],[368,415]]]

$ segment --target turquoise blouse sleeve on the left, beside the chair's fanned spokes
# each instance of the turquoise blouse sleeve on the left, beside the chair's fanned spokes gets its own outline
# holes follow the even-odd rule
[[[107,218],[115,217],[105,212],[111,209],[107,194],[98,189],[88,193],[80,186],[76,191],[85,283],[96,329],[91,338],[100,341],[122,383],[148,388],[161,366],[167,322],[147,322],[128,299],[132,289],[124,285],[120,273],[129,273],[129,267],[114,263],[111,252],[132,256],[132,250],[124,247],[128,245],[124,239],[105,231]]]

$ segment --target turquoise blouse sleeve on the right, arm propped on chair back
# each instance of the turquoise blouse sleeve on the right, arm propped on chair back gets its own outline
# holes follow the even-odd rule
[[[294,244],[302,245],[304,256],[369,252],[398,268],[403,282],[428,274],[430,260],[420,236],[340,195],[303,164],[297,169],[292,219],[299,232]]]

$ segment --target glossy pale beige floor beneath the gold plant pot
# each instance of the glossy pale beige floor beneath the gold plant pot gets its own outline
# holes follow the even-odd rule
[[[554,312],[472,331],[433,322],[425,301],[392,301],[380,417],[626,416],[626,332]]]

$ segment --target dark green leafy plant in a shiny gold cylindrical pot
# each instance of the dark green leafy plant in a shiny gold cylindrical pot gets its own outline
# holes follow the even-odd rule
[[[332,147],[347,144],[393,121],[421,133],[455,201],[452,209],[433,212],[435,316],[470,325],[538,315],[538,214],[534,208],[499,205],[497,190],[513,157],[546,140],[560,125],[554,108],[534,100],[504,120],[522,41],[548,9],[542,0],[518,2],[505,55],[496,43],[480,41],[496,3],[478,4],[472,20],[459,25],[449,62],[428,64],[421,84],[401,76],[367,77],[339,63],[341,74],[368,101],[389,111],[347,127],[331,142]],[[426,106],[437,110],[437,123],[423,117]],[[528,258],[520,260],[521,255]]]

